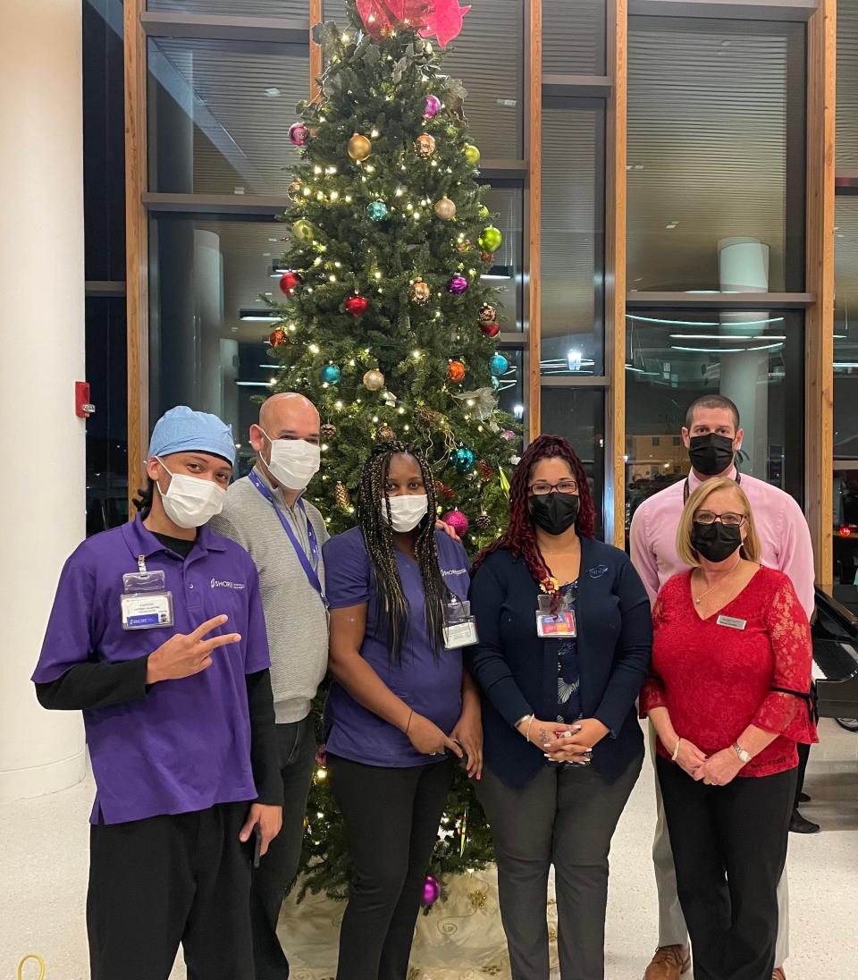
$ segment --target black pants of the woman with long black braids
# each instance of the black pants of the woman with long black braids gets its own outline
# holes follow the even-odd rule
[[[337,980],[405,980],[453,760],[393,768],[328,755],[352,860]]]

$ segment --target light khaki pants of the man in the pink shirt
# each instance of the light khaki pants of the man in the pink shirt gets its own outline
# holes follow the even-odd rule
[[[651,724],[648,728],[649,748],[654,763],[655,729]],[[658,890],[658,945],[687,946],[689,930],[677,894],[676,867],[673,862],[673,851],[670,847],[670,835],[667,831],[657,772],[655,773],[655,809],[658,816],[655,837],[652,841],[652,863],[655,867],[655,887]],[[789,956],[789,885],[785,868],[778,883],[778,941],[775,945],[775,965],[783,966],[787,956]]]

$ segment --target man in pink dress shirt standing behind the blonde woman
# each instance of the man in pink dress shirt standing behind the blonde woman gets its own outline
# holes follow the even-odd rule
[[[729,476],[739,481],[750,501],[762,545],[762,564],[789,576],[809,617],[814,608],[814,567],[807,522],[798,505],[783,490],[737,471],[735,457],[743,436],[737,407],[721,395],[698,398],[689,408],[682,435],[691,459],[688,477],[644,500],[632,518],[632,562],[644,580],[650,602],[655,602],[659,589],[671,576],[688,570],[688,565],[677,557],[676,532],[690,494],[704,480]],[[799,789],[806,764],[805,752],[800,762]],[[691,964],[688,930],[677,897],[676,869],[657,779],[655,796],[658,822],[652,860],[658,888],[658,949],[646,968],[644,980],[679,980]],[[796,809],[790,829],[815,833],[819,827],[805,820]],[[786,980],[783,967],[788,955],[789,932],[786,874],[778,898],[780,926],[775,962],[779,965],[772,976],[773,980]]]

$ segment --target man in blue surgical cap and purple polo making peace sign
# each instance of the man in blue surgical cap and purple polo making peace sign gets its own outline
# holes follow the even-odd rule
[[[179,944],[190,978],[253,980],[251,865],[283,790],[257,569],[206,526],[234,462],[219,418],[159,420],[141,513],[71,555],[33,674],[86,725],[92,980],[167,980]]]

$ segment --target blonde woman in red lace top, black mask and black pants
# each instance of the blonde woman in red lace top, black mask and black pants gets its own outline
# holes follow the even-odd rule
[[[703,483],[677,535],[691,571],[653,610],[641,711],[691,935],[695,980],[771,980],[796,743],[816,742],[807,616],[785,574],[758,564],[747,498]]]

